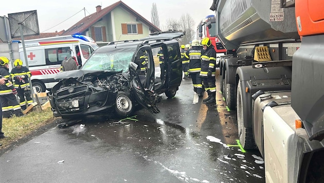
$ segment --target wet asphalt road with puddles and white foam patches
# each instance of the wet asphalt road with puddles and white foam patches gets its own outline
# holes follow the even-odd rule
[[[0,155],[0,182],[264,182],[260,153],[228,146],[237,145],[236,113],[217,95],[217,107],[193,104],[186,79],[159,114],[50,129]]]

